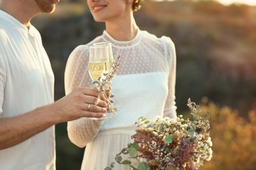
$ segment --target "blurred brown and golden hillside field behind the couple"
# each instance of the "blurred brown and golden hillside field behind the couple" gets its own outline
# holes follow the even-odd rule
[[[256,169],[256,7],[146,0],[135,18],[140,29],[175,42],[178,114],[189,116],[189,97],[210,111],[213,158],[200,169]],[[56,12],[32,24],[41,32],[60,99],[70,52],[101,35],[104,24],[79,0],[60,1]],[[66,123],[56,125],[57,170],[80,169],[83,150],[70,143]]]

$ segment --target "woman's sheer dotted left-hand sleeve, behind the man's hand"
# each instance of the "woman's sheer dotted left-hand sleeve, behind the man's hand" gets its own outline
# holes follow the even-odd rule
[[[72,92],[75,87],[93,87],[88,73],[89,47],[78,46],[70,54],[65,69],[65,92]],[[83,148],[92,141],[104,120],[80,118],[68,122],[68,137],[72,143]]]

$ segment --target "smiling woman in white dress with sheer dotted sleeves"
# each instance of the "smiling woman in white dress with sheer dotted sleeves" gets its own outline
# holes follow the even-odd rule
[[[96,22],[106,30],[70,54],[65,72],[66,93],[77,86],[93,86],[88,73],[89,46],[111,42],[114,59],[121,66],[112,83],[114,106],[119,110],[109,120],[81,118],[68,122],[68,136],[79,147],[86,146],[81,169],[104,169],[122,148],[132,143],[135,122],[140,116],[176,118],[175,46],[169,37],[157,38],[141,31],[133,17],[140,0],[87,0]],[[115,165],[115,169],[127,169]]]

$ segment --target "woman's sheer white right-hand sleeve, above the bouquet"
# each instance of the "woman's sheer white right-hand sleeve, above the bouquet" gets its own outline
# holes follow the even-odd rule
[[[169,65],[169,93],[165,103],[165,109],[163,116],[168,116],[171,118],[177,117],[176,103],[175,103],[175,83],[176,83],[176,52],[175,44],[169,37],[161,37],[165,45],[165,58],[167,59],[167,64]]]

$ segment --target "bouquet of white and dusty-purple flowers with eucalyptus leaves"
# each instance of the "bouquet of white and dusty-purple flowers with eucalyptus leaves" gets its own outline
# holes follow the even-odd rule
[[[192,120],[182,115],[173,118],[156,116],[154,120],[140,117],[139,127],[132,135],[134,143],[128,144],[116,155],[116,162],[132,169],[198,169],[204,161],[211,160],[213,151],[209,136],[209,112],[199,116],[200,106],[188,99]],[[131,160],[122,160],[129,154]],[[114,162],[105,170],[111,170]]]

